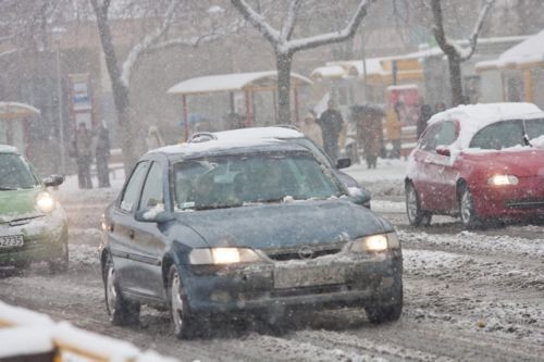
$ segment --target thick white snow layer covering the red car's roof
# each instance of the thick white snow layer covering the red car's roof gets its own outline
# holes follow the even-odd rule
[[[460,124],[459,137],[453,148],[468,148],[472,136],[483,127],[506,120],[544,117],[544,112],[533,103],[486,103],[459,105],[436,113],[429,125],[444,120],[455,120]]]

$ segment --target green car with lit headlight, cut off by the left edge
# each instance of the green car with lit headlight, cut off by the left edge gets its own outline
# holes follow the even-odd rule
[[[66,214],[47,190],[63,180],[41,179],[14,147],[0,145],[0,269],[45,261],[52,273],[67,270]]]

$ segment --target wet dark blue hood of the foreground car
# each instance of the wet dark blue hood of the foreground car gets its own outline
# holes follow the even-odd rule
[[[295,201],[180,214],[210,247],[281,248],[392,232],[390,223],[344,200]]]

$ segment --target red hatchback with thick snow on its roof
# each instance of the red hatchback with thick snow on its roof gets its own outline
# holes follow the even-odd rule
[[[544,216],[544,112],[531,103],[460,105],[435,114],[410,154],[406,211],[466,228]]]

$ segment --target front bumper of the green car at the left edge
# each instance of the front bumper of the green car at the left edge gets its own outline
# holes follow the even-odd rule
[[[27,223],[0,224],[0,236],[22,235],[21,247],[0,249],[0,267],[16,266],[62,257],[67,245],[67,222],[62,210],[28,220]]]

